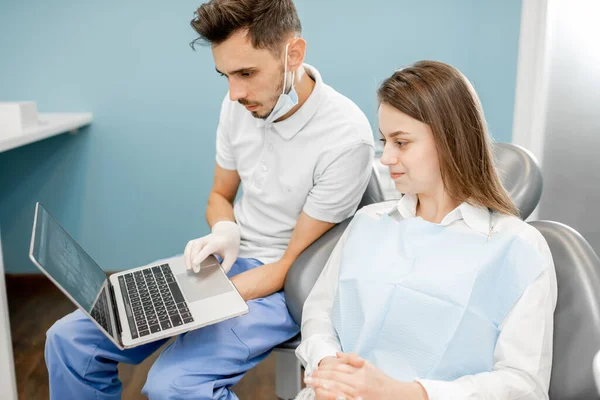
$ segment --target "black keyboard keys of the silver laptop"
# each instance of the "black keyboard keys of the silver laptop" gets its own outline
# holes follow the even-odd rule
[[[194,322],[169,264],[119,276],[132,339]]]

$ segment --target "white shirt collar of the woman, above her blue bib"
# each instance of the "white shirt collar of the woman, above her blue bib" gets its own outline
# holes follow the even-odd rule
[[[417,215],[417,196],[405,194],[398,201],[396,208],[403,218],[414,218]],[[450,211],[440,225],[448,226],[456,221],[464,220],[471,229],[487,235],[490,231],[490,212],[486,207],[473,206],[463,202]]]

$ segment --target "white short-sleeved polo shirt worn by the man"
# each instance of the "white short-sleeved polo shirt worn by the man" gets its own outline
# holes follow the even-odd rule
[[[313,92],[292,116],[267,123],[225,96],[217,129],[217,163],[236,170],[234,205],[240,257],[279,260],[302,211],[337,223],[354,215],[374,154],[369,121],[351,100],[304,64]]]

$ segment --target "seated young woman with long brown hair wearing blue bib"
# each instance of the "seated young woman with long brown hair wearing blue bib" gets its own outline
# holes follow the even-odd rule
[[[361,209],[308,297],[299,399],[547,399],[556,276],[492,161],[477,94],[421,61],[378,90],[404,196]]]

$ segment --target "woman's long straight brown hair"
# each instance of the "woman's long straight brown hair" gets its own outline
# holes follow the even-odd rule
[[[394,72],[377,96],[380,103],[430,126],[442,181],[453,199],[519,215],[494,167],[479,97],[460,71],[437,61],[419,61]]]

